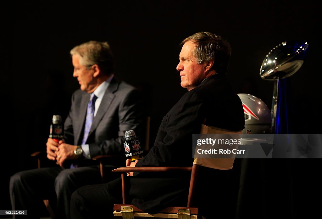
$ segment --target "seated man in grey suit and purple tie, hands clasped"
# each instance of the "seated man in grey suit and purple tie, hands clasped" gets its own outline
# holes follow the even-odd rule
[[[98,166],[91,158],[123,153],[124,132],[142,132],[140,95],[114,77],[109,44],[89,41],[70,53],[73,77],[81,89],[72,95],[64,139],[47,141],[47,158],[59,166],[18,172],[10,180],[13,209],[25,209],[31,218],[39,217],[38,204],[43,199],[52,206],[57,203],[56,218],[69,218],[72,192],[100,182]]]

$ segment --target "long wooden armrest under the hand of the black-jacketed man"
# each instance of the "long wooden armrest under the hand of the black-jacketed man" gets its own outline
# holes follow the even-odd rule
[[[165,171],[191,171],[192,167],[120,167],[112,172],[165,172]]]

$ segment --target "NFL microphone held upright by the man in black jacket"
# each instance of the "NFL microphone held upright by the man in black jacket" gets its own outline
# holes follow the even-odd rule
[[[124,150],[125,150],[125,157],[131,158],[131,160],[140,160],[143,154],[143,149],[140,145],[140,140],[136,138],[134,130],[129,130],[125,132],[125,139],[124,141]]]

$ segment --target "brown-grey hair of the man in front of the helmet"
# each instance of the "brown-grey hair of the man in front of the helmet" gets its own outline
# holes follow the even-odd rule
[[[202,64],[214,60],[213,69],[218,74],[224,74],[227,71],[231,47],[228,41],[221,36],[210,32],[198,32],[185,38],[180,45],[187,41],[195,43],[193,55],[197,64]]]

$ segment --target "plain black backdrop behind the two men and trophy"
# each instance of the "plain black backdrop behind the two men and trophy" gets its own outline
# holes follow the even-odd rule
[[[209,31],[226,38],[232,46],[228,77],[236,92],[257,96],[269,108],[273,82],[259,76],[263,59],[283,41],[308,41],[309,51],[303,66],[289,78],[292,129],[294,133],[321,133],[321,86],[317,68],[320,12],[312,1],[90,1],[78,4],[11,3],[1,8],[0,209],[11,208],[10,176],[36,167],[30,154],[45,150],[52,114],[66,117],[71,94],[79,88],[72,77],[69,51],[85,41],[108,41],[116,59],[116,77],[146,91],[151,141],[162,117],[186,92],[175,69],[181,50],[179,44],[185,37]],[[273,182],[281,181],[285,187],[292,184],[293,195],[283,199],[288,203],[310,200],[316,194],[318,184],[314,176],[320,172],[319,160],[283,161],[294,164],[283,167],[280,167],[281,161],[271,160],[271,169],[266,171],[269,176],[265,175],[262,180],[274,185]],[[284,176],[283,171],[290,177],[277,179]],[[305,191],[298,190],[302,184]],[[278,192],[273,194],[278,196]],[[270,201],[275,201],[272,195],[266,199]],[[311,208],[309,202],[304,203],[300,206]],[[292,205],[288,215],[294,217],[297,206]]]

